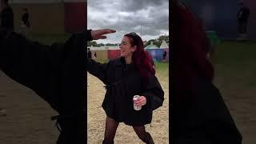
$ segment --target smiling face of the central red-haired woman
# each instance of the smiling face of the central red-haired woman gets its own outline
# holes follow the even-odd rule
[[[131,46],[130,38],[126,36],[122,38],[119,48],[121,49],[121,57],[132,56],[133,52],[136,50],[136,46]]]

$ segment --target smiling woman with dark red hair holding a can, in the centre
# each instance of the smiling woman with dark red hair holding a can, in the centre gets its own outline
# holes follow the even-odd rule
[[[88,60],[87,70],[106,84],[102,107],[106,112],[106,130],[103,143],[114,143],[119,122],[133,126],[138,137],[154,143],[145,126],[152,120],[152,112],[162,106],[164,92],[154,76],[154,62],[143,49],[138,34],[125,34],[120,44],[121,58],[107,63]],[[133,101],[134,95],[139,95]],[[134,110],[141,106],[141,110]]]

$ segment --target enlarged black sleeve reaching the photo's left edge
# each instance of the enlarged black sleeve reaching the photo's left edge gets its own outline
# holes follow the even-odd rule
[[[11,33],[0,40],[0,67],[14,81],[48,100],[60,63],[62,46],[45,46]],[[49,87],[47,85],[49,83]]]

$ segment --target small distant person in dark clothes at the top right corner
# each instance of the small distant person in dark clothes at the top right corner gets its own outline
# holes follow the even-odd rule
[[[244,6],[243,2],[240,2],[239,5],[241,6],[237,14],[239,39],[245,39],[247,33],[248,18],[250,16],[250,9]]]

